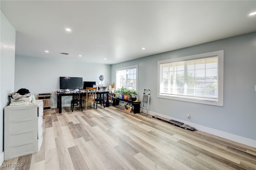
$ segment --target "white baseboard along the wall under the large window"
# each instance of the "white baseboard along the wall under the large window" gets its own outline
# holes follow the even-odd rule
[[[165,118],[168,118],[168,119],[174,119],[176,121],[179,121],[179,122],[182,122],[184,124],[190,125],[191,127],[194,127],[197,130],[201,130],[201,131],[206,132],[206,133],[214,134],[216,136],[220,136],[222,138],[226,138],[226,139],[238,142],[238,143],[242,143],[242,144],[245,144],[245,145],[248,145],[248,146],[252,146],[254,148],[256,147],[256,140],[244,138],[242,136],[237,136],[235,134],[230,134],[230,133],[223,132],[223,131],[220,131],[220,130],[216,130],[216,129],[213,129],[213,128],[204,127],[204,126],[201,126],[201,125],[197,125],[197,124],[194,124],[194,123],[191,123],[191,122],[176,119],[174,117],[169,117],[169,116],[162,115],[162,114],[152,112],[152,111],[148,111],[148,114],[158,115],[158,116],[165,117]]]

